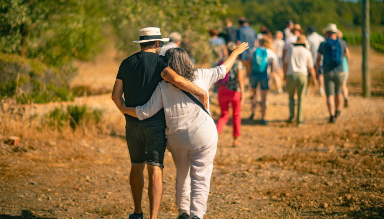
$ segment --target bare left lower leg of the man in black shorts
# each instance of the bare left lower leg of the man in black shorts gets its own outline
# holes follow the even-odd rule
[[[144,167],[142,165],[132,165],[131,174],[129,176],[129,183],[131,185],[133,202],[135,205],[135,213],[140,214],[141,211],[141,199],[143,197],[143,187],[144,187]]]

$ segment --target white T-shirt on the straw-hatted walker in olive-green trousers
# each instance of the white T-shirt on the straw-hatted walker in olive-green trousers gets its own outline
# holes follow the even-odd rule
[[[287,75],[308,75],[308,68],[313,68],[311,51],[304,46],[289,48],[284,61],[288,64]]]

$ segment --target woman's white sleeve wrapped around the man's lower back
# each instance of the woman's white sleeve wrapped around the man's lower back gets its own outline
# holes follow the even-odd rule
[[[160,82],[159,85],[156,87],[156,90],[152,94],[151,99],[149,99],[149,101],[145,105],[136,107],[136,115],[138,119],[143,120],[149,118],[164,107],[163,98],[161,94],[161,83],[162,82]]]

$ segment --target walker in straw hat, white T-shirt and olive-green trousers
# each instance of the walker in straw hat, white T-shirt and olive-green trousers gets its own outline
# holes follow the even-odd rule
[[[306,48],[306,36],[300,35],[293,47],[289,48],[285,57],[284,67],[285,78],[287,80],[287,90],[289,95],[289,119],[288,122],[297,120],[298,126],[304,122],[304,97],[308,83],[308,72],[313,78],[316,86],[315,69],[313,68],[313,58],[311,52]],[[295,100],[294,94],[297,91],[298,108],[297,119],[295,118]]]

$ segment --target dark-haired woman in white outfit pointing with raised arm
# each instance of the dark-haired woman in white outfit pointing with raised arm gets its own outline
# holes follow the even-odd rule
[[[182,48],[169,49],[166,57],[173,70],[208,93],[209,87],[225,77],[236,57],[247,48],[248,43],[240,44],[222,65],[211,69],[193,69],[188,53]],[[136,108],[123,105],[121,111],[143,120],[162,108],[166,115],[168,150],[177,169],[178,219],[202,219],[217,149],[217,130],[208,114],[209,101],[204,111],[202,105],[198,106],[182,90],[162,81],[147,104]]]

